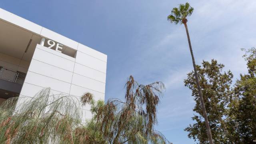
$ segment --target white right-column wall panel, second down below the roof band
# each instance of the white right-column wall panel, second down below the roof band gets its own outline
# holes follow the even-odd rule
[[[88,78],[92,78],[103,83],[106,82],[105,73],[83,66],[82,64],[75,63],[74,73],[81,74],[82,76],[86,76]]]

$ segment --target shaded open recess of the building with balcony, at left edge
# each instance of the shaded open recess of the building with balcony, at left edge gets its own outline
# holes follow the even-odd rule
[[[40,40],[40,36],[0,20],[0,104],[19,96]]]

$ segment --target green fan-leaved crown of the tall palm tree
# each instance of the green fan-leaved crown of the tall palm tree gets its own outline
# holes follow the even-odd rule
[[[167,19],[174,24],[185,24],[188,22],[187,16],[191,16],[194,8],[192,8],[188,2],[186,4],[180,4],[179,8],[173,8],[171,14]]]

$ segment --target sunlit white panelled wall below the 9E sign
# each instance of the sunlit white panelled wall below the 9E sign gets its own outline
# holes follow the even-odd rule
[[[20,96],[33,97],[42,88],[53,94],[80,96],[85,92],[95,100],[104,100],[106,55],[84,45],[78,46],[76,58],[37,45]],[[82,107],[83,120],[91,118],[90,106]]]

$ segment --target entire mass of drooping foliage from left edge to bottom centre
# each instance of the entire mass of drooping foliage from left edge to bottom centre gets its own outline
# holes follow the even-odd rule
[[[154,129],[162,90],[162,82],[142,85],[130,76],[124,102],[96,102],[90,93],[78,100],[53,95],[50,88],[33,98],[11,98],[0,108],[0,143],[167,144],[170,142]],[[93,118],[85,123],[79,101],[91,104]]]

